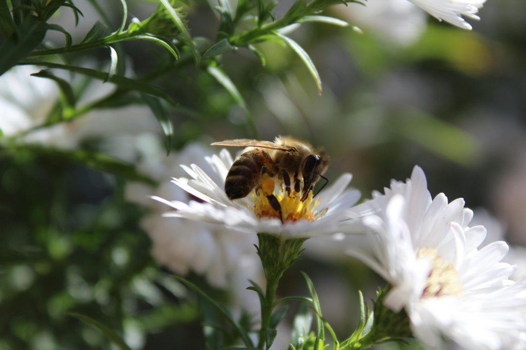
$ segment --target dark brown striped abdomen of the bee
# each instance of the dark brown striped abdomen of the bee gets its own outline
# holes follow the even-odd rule
[[[263,150],[254,149],[242,153],[230,167],[225,179],[225,192],[228,198],[246,197],[259,183],[262,167],[271,165],[270,156]]]

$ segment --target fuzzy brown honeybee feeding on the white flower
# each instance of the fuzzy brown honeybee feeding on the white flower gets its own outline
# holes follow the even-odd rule
[[[215,146],[247,147],[230,167],[225,179],[225,192],[229,199],[246,197],[261,185],[261,175],[278,176],[290,194],[291,179],[296,193],[301,191],[304,201],[329,166],[329,157],[322,149],[313,149],[305,142],[290,136],[278,136],[274,142],[249,139],[214,142]],[[325,186],[323,185],[323,186]],[[321,188],[320,188],[321,190]],[[319,191],[318,191],[319,192]],[[279,207],[274,195],[267,196],[276,210]]]

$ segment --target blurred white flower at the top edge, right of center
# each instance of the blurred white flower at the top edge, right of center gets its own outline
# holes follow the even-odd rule
[[[365,4],[342,4],[334,9],[351,25],[400,45],[413,43],[426,29],[426,14],[407,0],[369,0]]]

